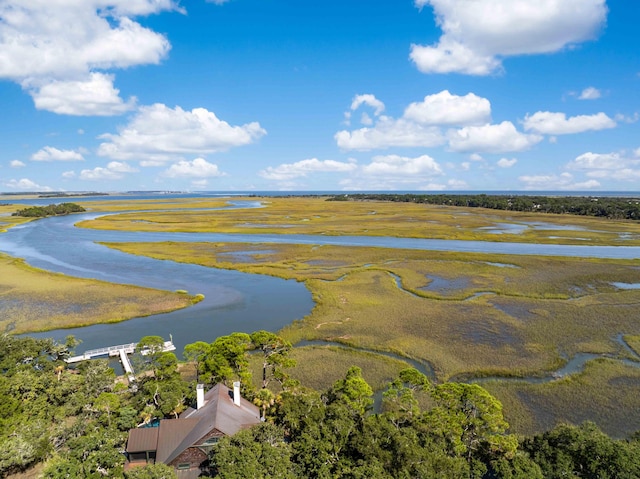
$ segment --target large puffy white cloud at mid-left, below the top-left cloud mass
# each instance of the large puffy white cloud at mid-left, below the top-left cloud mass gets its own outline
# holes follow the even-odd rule
[[[186,111],[157,103],[141,107],[118,134],[104,134],[98,154],[117,160],[169,161],[253,143],[266,134],[259,123],[232,126],[204,108]]]

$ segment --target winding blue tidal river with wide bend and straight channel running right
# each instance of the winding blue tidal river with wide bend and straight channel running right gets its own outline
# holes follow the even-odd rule
[[[256,207],[236,202],[232,207]],[[173,336],[177,352],[195,341],[211,342],[234,331],[276,331],[309,314],[310,292],[302,283],[262,275],[205,268],[197,265],[133,256],[97,244],[106,242],[215,241],[252,243],[307,243],[378,246],[437,251],[535,254],[601,258],[640,258],[640,247],[536,245],[479,241],[426,240],[384,237],[331,237],[304,235],[226,235],[210,233],[139,233],[74,227],[74,223],[100,216],[83,213],[45,218],[0,234],[0,251],[24,258],[29,264],[84,278],[133,284],[169,291],[201,293],[205,300],[172,313],[135,318],[117,324],[49,331],[36,336],[63,339],[73,334],[82,340],[79,350],[135,342],[145,335]]]

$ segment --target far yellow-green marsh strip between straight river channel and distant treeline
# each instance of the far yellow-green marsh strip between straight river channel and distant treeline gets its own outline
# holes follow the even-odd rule
[[[637,222],[414,203],[326,201],[326,198],[312,197],[263,198],[261,201],[264,208],[123,213],[85,221],[81,226],[131,231],[397,236],[581,245],[640,244],[640,224]],[[188,202],[182,207],[187,205]],[[174,206],[167,205],[167,209],[170,208]],[[513,223],[530,227],[521,234],[508,231],[491,233],[492,229]],[[540,223],[551,225],[552,229],[534,226]]]

